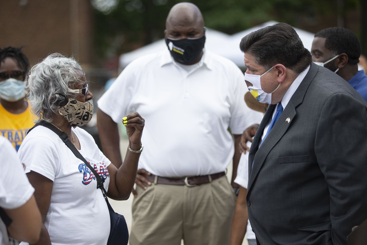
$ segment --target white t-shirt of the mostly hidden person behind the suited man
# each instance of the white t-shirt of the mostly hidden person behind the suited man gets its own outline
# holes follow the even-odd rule
[[[247,146],[251,146],[251,142],[247,142]],[[248,151],[246,154],[241,154],[240,162],[237,168],[237,176],[235,179],[235,183],[241,185],[243,188],[247,189],[248,183]],[[250,220],[247,220],[247,228],[246,228],[247,239],[256,239],[255,233],[252,231]]]

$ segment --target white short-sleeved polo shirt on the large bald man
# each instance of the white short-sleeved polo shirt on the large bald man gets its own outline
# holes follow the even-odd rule
[[[116,122],[137,111],[145,119],[143,168],[158,176],[184,177],[222,172],[234,153],[233,134],[262,114],[244,102],[243,73],[230,60],[204,51],[184,69],[168,50],[140,57],[121,72],[98,100]]]

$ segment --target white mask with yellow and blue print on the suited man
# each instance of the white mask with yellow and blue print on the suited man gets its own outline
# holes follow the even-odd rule
[[[272,93],[274,93],[277,89],[279,89],[280,83],[278,87],[270,94],[266,93],[261,88],[261,77],[264,76],[266,73],[268,73],[273,68],[274,66],[262,75],[252,75],[252,74],[245,73],[245,81],[247,84],[247,88],[248,90],[250,90],[250,93],[252,94],[252,96],[254,96],[255,99],[259,101],[260,103],[270,104],[272,102]]]

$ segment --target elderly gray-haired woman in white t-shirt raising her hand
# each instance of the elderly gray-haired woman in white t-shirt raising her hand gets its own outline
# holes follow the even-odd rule
[[[144,119],[138,113],[124,118],[129,147],[123,165],[117,169],[91,135],[78,127],[86,125],[93,115],[93,95],[85,73],[73,58],[60,54],[46,57],[31,69],[26,92],[39,121],[65,132],[72,147],[87,160],[77,158],[72,148],[48,127],[34,127],[25,137],[18,155],[26,164],[44,222],[37,244],[107,244],[108,206],[101,190],[96,188],[99,178],[85,162],[104,180],[108,197],[127,199],[142,151]]]

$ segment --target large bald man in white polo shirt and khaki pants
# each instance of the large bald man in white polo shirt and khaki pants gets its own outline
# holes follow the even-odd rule
[[[225,245],[235,207],[225,169],[233,158],[234,185],[240,136],[262,115],[243,101],[240,69],[203,50],[194,4],[172,7],[165,37],[166,50],[131,62],[98,101],[103,149],[117,166],[116,123],[130,111],[146,119],[130,244]]]

